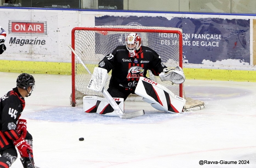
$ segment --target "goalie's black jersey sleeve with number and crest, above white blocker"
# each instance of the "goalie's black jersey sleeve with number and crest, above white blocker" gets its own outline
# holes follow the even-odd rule
[[[104,68],[109,71],[115,66],[115,55],[116,55],[117,49],[115,49],[112,53],[106,55],[99,63],[100,68]]]

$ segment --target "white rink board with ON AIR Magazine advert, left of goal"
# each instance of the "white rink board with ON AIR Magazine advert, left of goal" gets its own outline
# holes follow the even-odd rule
[[[7,32],[2,60],[70,62],[71,30],[77,11],[21,10],[1,12]],[[18,13],[18,14],[17,14]]]

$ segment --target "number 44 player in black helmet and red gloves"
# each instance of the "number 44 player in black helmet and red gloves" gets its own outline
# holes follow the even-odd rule
[[[33,162],[33,139],[27,131],[26,120],[20,119],[20,115],[25,107],[24,97],[31,95],[35,79],[32,75],[23,73],[16,82],[17,87],[0,99],[0,167],[8,168],[17,159],[16,147],[24,168],[32,168],[30,159]]]

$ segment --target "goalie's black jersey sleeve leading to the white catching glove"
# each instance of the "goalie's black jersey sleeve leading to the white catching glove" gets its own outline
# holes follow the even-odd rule
[[[149,70],[155,75],[158,76],[161,72],[163,72],[164,68],[167,68],[161,60],[161,57],[152,50],[153,60],[149,64]]]

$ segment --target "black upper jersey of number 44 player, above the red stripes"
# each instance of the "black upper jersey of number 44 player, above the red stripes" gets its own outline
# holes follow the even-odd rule
[[[2,132],[16,129],[16,122],[24,108],[25,100],[18,92],[18,88],[13,88],[1,97],[0,129]]]

